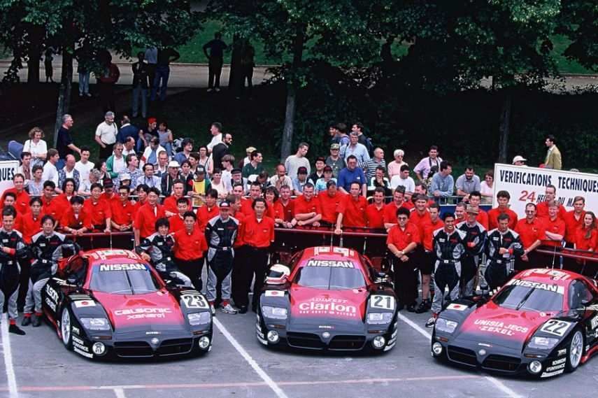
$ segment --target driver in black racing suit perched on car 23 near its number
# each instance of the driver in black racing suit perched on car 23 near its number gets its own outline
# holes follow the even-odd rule
[[[172,280],[176,285],[192,287],[191,279],[180,272],[173,261],[174,239],[169,234],[169,228],[168,219],[159,218],[155,224],[155,232],[143,238],[141,244],[135,247],[135,251],[143,257],[143,260],[151,260],[164,280]]]

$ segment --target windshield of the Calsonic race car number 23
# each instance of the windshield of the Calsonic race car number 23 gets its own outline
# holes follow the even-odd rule
[[[94,266],[90,289],[111,294],[144,294],[159,289],[145,264],[100,264]]]

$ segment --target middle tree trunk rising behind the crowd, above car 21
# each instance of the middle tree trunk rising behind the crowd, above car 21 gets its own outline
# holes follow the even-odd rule
[[[301,57],[303,57],[303,47],[305,41],[305,26],[297,27],[297,32],[293,39],[293,63],[292,75],[297,73],[301,66]],[[280,162],[291,154],[291,145],[293,143],[295,110],[297,108],[297,79],[295,76],[290,78],[287,83],[287,108],[285,110],[285,127],[283,129],[283,140],[280,145]]]

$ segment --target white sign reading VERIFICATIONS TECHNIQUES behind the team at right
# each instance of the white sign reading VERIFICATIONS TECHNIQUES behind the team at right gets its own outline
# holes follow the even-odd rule
[[[537,167],[494,164],[494,197],[492,206],[498,206],[496,194],[511,194],[511,210],[525,217],[525,204],[539,204],[546,200],[546,185],[557,188],[555,200],[567,211],[573,210],[574,197],[585,198],[585,208],[598,209],[598,175]]]

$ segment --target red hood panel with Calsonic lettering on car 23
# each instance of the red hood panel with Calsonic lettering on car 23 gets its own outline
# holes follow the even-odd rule
[[[106,310],[115,332],[139,326],[162,329],[185,322],[178,301],[169,292],[131,295],[96,292],[94,297]]]

